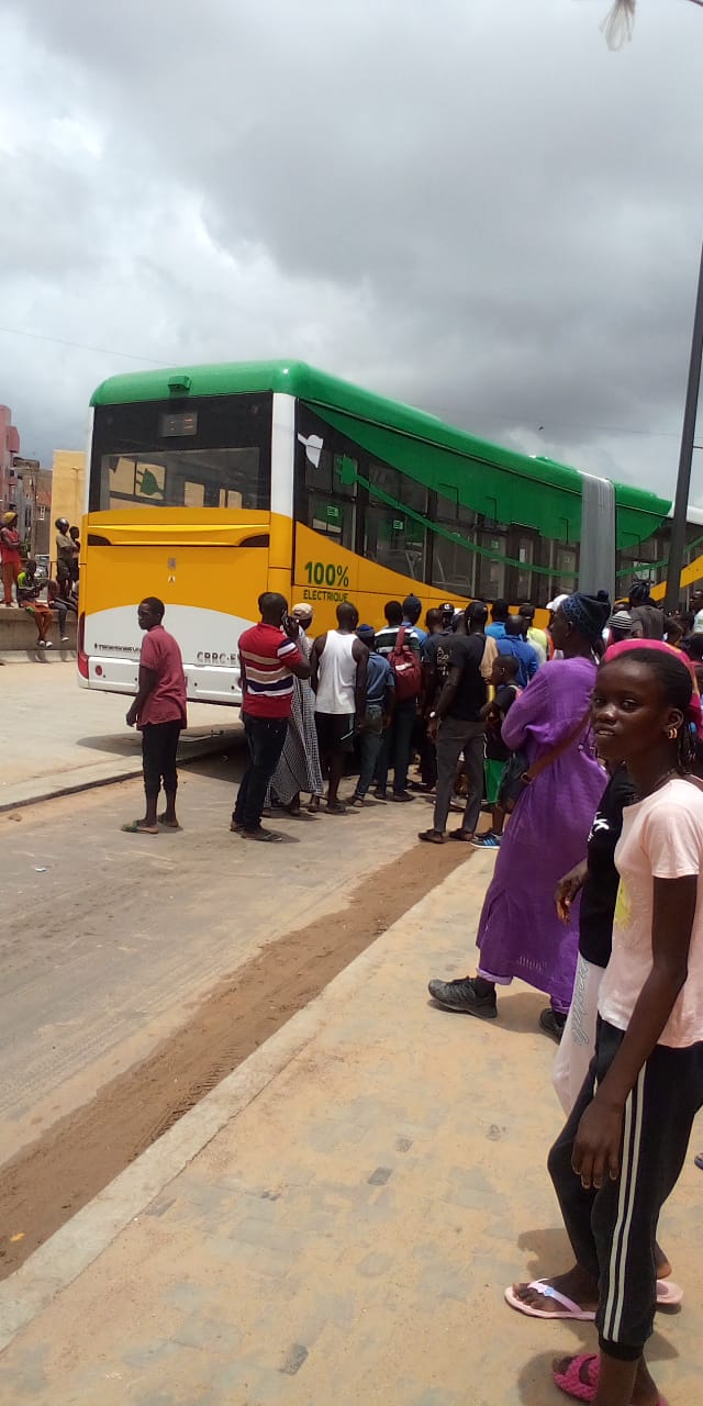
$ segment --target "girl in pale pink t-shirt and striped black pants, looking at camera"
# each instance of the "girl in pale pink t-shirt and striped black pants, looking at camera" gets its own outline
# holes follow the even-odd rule
[[[599,1285],[600,1353],[555,1362],[554,1379],[596,1406],[661,1406],[644,1361],[657,1223],[703,1107],[703,789],[689,775],[690,672],[643,643],[602,664],[592,716],[602,758],[627,765],[637,799],[616,849],[596,1054],[548,1160],[576,1260]]]

